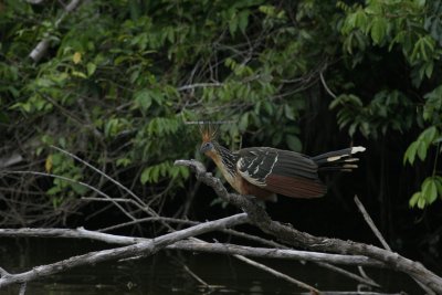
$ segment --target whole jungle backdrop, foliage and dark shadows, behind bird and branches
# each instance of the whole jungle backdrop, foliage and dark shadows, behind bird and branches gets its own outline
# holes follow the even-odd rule
[[[269,213],[312,234],[373,242],[352,203],[358,194],[394,251],[441,272],[442,1],[66,4],[0,1],[1,226],[125,220],[85,200],[97,197],[87,187],[27,173],[127,197],[53,146],[164,215],[236,212],[173,166],[196,158],[212,169],[188,123],[224,122],[219,141],[231,149],[367,147],[356,172],[323,176],[325,198],[280,197]],[[32,55],[42,41],[48,49]]]

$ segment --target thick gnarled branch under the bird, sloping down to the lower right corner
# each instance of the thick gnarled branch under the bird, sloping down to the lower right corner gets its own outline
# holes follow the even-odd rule
[[[398,253],[383,250],[373,245],[343,241],[339,239],[319,238],[299,232],[290,225],[273,221],[263,208],[252,200],[235,193],[229,193],[222,182],[206,172],[202,164],[196,160],[177,160],[175,165],[187,166],[196,171],[197,179],[212,187],[223,200],[241,208],[248,213],[250,221],[265,233],[294,246],[312,251],[334,252],[340,254],[365,255],[387,264],[390,268],[404,272],[436,293],[442,294],[442,278],[427,270],[422,264],[406,259]],[[201,168],[202,167],[202,168]]]

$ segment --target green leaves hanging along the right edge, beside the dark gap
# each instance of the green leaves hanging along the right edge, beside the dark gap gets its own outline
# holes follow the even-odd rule
[[[408,76],[402,78],[402,85],[408,86],[389,94],[378,92],[367,105],[356,95],[340,95],[330,107],[339,108],[339,125],[348,127],[350,135],[356,129],[365,136],[375,137],[378,128],[382,129],[382,134],[389,128],[401,133],[412,127],[420,129],[417,140],[408,147],[403,162],[415,166],[417,157],[421,161],[433,161],[431,176],[410,199],[411,207],[422,209],[440,194],[436,188],[440,187],[441,176],[435,168],[438,154],[441,152],[442,128],[442,84],[439,78],[442,66],[442,1],[371,0],[365,6],[350,7],[339,2],[338,7],[346,13],[339,30],[345,36],[343,48],[350,54],[347,59],[351,66],[356,69],[365,60],[373,61],[373,56],[379,54],[375,48],[397,56],[400,54],[408,66]],[[433,91],[425,93],[428,88]],[[430,150],[434,150],[432,159],[428,157]]]

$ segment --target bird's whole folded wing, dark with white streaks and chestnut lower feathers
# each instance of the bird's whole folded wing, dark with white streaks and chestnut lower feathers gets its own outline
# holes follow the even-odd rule
[[[238,151],[236,169],[248,182],[293,198],[316,198],[327,188],[317,176],[317,165],[288,150],[260,147]]]

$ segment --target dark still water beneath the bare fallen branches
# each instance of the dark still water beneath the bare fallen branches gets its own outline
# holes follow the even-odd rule
[[[64,239],[0,239],[0,266],[10,273],[23,272],[32,266],[108,247],[109,245],[104,243]],[[275,260],[260,260],[260,262],[314,285],[320,291],[357,289],[357,282],[313,264],[303,265],[295,261]],[[193,278],[185,271],[185,265],[212,288],[204,287]],[[423,293],[404,275],[379,270],[366,271],[383,286],[382,292]],[[154,257],[74,268],[30,283],[25,294],[266,295],[303,292],[305,291],[232,257],[164,251]],[[18,294],[18,287],[0,289],[0,294]]]

